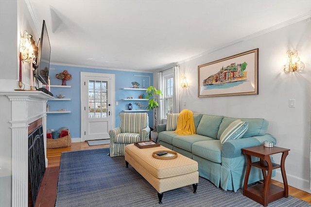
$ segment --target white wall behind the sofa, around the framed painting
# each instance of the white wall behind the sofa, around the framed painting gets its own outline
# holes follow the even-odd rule
[[[198,98],[198,65],[259,48],[259,95]],[[281,68],[285,53],[297,49],[305,69],[285,74]],[[265,33],[236,45],[181,63],[179,76],[186,75],[189,88],[181,90],[180,109],[240,118],[265,118],[267,133],[277,146],[289,148],[285,162],[288,183],[311,192],[310,179],[310,107],[311,107],[311,22],[306,20]],[[289,108],[289,99],[296,107]],[[183,101],[186,101],[184,106]],[[280,156],[274,156],[279,163]],[[277,170],[274,179],[281,181]]]

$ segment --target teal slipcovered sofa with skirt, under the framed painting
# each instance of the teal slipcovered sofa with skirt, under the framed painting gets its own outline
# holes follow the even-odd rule
[[[265,141],[276,144],[276,139],[266,134],[268,121],[265,119],[230,118],[194,113],[196,134],[180,136],[173,132],[177,117],[178,114],[168,114],[167,124],[157,126],[157,142],[197,161],[199,175],[225,191],[236,192],[243,187],[247,160],[242,154],[242,148],[263,145]],[[245,134],[241,139],[228,140],[222,145],[220,142],[222,133],[230,123],[238,119],[248,122]],[[252,161],[258,160],[252,157]],[[252,167],[248,184],[262,179],[261,169]]]

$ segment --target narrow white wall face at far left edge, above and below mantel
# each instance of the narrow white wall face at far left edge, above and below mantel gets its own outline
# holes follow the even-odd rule
[[[17,83],[18,78],[17,0],[0,1],[0,28],[0,90],[3,90],[9,82]],[[11,206],[12,132],[9,120],[12,119],[9,102],[8,97],[0,96],[0,207]]]

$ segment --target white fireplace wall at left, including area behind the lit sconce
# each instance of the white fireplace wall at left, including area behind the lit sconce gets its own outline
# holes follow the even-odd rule
[[[0,0],[0,92],[18,89],[18,45],[20,32],[33,32],[34,22],[24,0]],[[41,26],[40,26],[41,27]],[[30,64],[24,64],[22,81],[29,89]],[[0,207],[11,206],[12,185],[12,131],[9,121],[11,103],[0,96]]]

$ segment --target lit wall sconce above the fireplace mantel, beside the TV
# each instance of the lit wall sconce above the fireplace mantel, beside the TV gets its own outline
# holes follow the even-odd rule
[[[31,59],[36,58],[37,47],[35,41],[33,36],[26,30],[20,35],[19,52],[21,53],[21,60],[24,62],[30,63]]]

